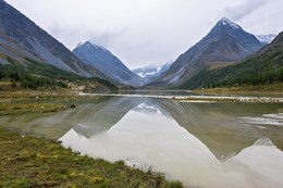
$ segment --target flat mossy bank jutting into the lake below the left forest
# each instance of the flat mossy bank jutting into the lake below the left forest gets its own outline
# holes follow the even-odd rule
[[[82,102],[94,102],[101,97],[79,97],[70,90],[56,91],[0,91],[0,115],[49,113],[75,108]]]

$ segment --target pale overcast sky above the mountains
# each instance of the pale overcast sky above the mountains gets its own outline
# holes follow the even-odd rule
[[[174,61],[223,16],[251,34],[283,30],[283,0],[5,0],[73,50],[89,40],[130,68]]]

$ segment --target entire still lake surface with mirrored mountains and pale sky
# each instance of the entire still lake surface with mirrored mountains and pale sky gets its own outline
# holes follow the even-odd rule
[[[189,187],[283,187],[282,104],[112,97],[0,123]]]

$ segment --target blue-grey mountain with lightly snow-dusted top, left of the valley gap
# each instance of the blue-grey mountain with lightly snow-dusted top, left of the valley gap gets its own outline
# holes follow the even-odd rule
[[[140,86],[144,79],[132,73],[115,55],[103,47],[86,41],[78,43],[73,53],[86,65],[96,67],[113,82]]]

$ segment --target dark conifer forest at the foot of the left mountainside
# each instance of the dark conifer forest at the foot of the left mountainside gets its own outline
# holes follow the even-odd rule
[[[10,64],[0,64],[0,80],[10,80],[12,87],[38,88],[67,88],[67,82],[91,80],[112,89],[116,89],[108,80],[100,78],[86,78],[74,73],[60,70],[56,66],[38,63],[29,58],[24,58],[25,65],[17,63],[12,58],[7,58]]]

